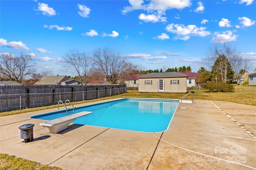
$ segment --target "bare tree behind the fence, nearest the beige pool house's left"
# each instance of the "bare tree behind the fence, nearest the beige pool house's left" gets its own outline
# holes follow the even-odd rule
[[[120,55],[112,53],[108,48],[96,49],[94,57],[98,69],[104,72],[110,84],[120,83],[124,80],[124,75],[132,72],[132,64],[121,58]]]

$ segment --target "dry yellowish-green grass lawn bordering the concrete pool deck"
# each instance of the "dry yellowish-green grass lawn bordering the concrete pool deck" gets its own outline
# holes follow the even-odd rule
[[[242,86],[234,85],[235,91],[231,93],[223,92],[208,92],[203,89],[188,90],[192,92],[194,99],[204,99],[204,100],[219,100],[227,102],[235,102],[239,104],[247,104],[256,106],[256,86]],[[181,99],[185,94],[182,93],[139,93],[138,90],[128,90],[126,94],[120,94],[118,96],[112,96],[107,98],[101,98],[97,100],[104,100],[110,98],[165,98],[165,99]],[[188,95],[185,100],[191,99],[191,95]],[[82,102],[72,102],[73,105],[92,102],[96,100],[82,101]],[[10,111],[0,113],[0,116],[13,115],[19,113],[25,113],[29,111],[36,111],[42,109],[49,109],[57,107],[47,106],[38,107],[33,109],[24,109],[18,111]],[[16,158],[15,156],[9,156],[7,154],[0,154],[0,170],[61,170],[58,167],[51,167],[47,165],[41,165],[37,162],[25,160],[22,158]]]

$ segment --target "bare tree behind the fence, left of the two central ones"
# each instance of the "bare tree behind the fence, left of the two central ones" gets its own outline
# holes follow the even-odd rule
[[[92,78],[94,73],[95,59],[90,53],[80,53],[78,50],[68,51],[63,56],[64,62],[67,66],[76,70],[76,75],[79,76],[80,81],[86,84]]]

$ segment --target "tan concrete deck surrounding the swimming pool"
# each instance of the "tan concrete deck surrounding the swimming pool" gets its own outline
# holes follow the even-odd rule
[[[92,102],[75,107],[88,104]],[[169,129],[155,133],[173,145],[246,166],[180,149],[153,133],[72,124],[55,134],[39,125],[42,120],[29,118],[56,110],[0,117],[0,152],[66,170],[256,168],[256,106],[209,100],[180,103]],[[21,143],[18,127],[26,123],[35,125],[34,141]]]

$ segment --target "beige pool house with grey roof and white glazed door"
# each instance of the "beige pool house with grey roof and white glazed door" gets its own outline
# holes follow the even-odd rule
[[[139,76],[139,92],[186,93],[186,74],[179,72],[153,72]]]

